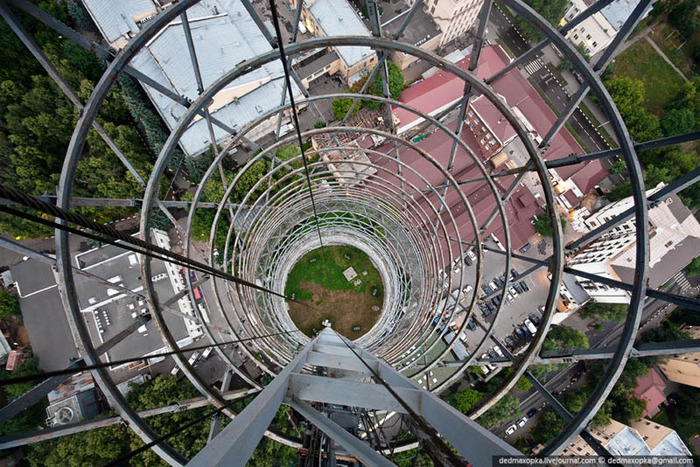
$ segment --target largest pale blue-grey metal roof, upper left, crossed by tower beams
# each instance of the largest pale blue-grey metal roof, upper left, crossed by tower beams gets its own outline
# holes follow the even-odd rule
[[[272,50],[239,0],[206,0],[199,6],[199,10],[188,12],[188,16],[205,87],[236,64]],[[215,12],[218,14],[201,17]],[[198,17],[199,19],[192,20]],[[180,21],[171,23],[156,36],[134,58],[132,65],[189,99],[195,100],[199,94]],[[242,86],[254,89],[241,95],[235,102],[212,110],[212,116],[234,129],[242,128],[280,104],[284,92],[284,81],[280,79],[282,76],[282,64],[277,60],[236,79],[226,90]],[[296,84],[292,83],[292,86],[295,96],[301,96],[301,90]],[[145,88],[168,127],[172,129],[185,113],[185,108],[152,88]],[[217,141],[230,136],[218,126],[214,126],[214,134]],[[191,124],[180,141],[182,149],[191,155],[204,152],[209,144],[209,130],[202,119]]]

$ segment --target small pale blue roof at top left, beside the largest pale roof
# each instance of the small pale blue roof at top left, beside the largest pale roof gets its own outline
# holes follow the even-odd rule
[[[109,43],[129,32],[139,32],[135,17],[156,12],[152,0],[83,0],[83,4]]]

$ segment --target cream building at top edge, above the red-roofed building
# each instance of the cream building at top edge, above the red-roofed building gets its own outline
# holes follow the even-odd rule
[[[426,11],[442,30],[440,47],[472,31],[483,3],[484,0],[428,0],[425,2]]]

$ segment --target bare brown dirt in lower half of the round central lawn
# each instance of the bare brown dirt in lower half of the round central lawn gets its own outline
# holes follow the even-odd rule
[[[289,303],[289,316],[301,332],[310,337],[313,337],[314,330],[322,329],[321,321],[328,319],[340,334],[357,339],[370,330],[381,314],[383,297],[372,297],[369,290],[326,290],[313,282],[299,285],[313,293],[313,298],[305,302],[313,308],[292,302]],[[372,310],[373,306],[378,310]],[[353,331],[356,326],[360,327],[359,331]]]

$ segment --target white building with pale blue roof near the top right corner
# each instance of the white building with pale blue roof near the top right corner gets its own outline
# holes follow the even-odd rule
[[[561,25],[571,21],[595,1],[571,0],[571,6],[564,14]],[[586,52],[593,56],[610,44],[638,3],[639,0],[615,0],[569,31],[566,38],[574,45],[582,44]],[[651,5],[644,12],[644,16],[648,15],[649,11],[651,11]]]

